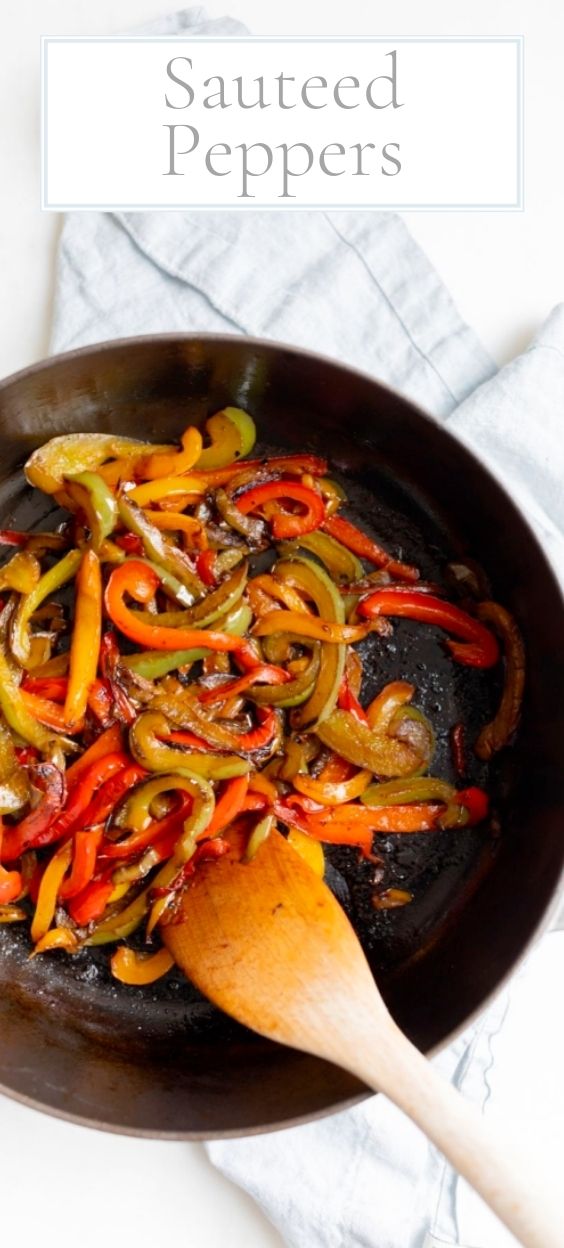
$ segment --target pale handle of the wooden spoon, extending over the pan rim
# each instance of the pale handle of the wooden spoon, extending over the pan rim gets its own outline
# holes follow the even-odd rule
[[[356,1038],[356,1037],[354,1037]],[[433,1141],[525,1248],[562,1248],[564,1208],[557,1207],[533,1156],[484,1124],[474,1104],[447,1083],[396,1023],[379,1020],[378,1040],[354,1046],[343,1062],[376,1091],[384,1092]]]

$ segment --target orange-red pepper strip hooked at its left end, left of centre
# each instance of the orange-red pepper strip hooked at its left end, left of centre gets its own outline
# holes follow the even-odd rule
[[[205,629],[166,628],[153,617],[153,624],[137,619],[139,612],[130,610],[124,599],[130,594],[137,603],[148,603],[158,588],[158,577],[141,560],[131,559],[115,568],[107,583],[105,604],[110,619],[131,641],[139,641],[153,650],[188,650],[205,646],[208,650],[240,650],[245,641],[228,633]]]

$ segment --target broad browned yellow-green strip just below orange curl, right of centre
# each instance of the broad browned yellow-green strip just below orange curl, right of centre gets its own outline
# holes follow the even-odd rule
[[[327,720],[317,725],[316,733],[323,745],[341,754],[347,763],[354,763],[376,775],[412,775],[422,761],[406,741],[374,733],[346,710],[334,710]]]

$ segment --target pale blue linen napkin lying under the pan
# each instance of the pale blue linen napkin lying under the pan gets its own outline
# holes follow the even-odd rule
[[[243,30],[231,19],[207,22],[201,9],[152,29]],[[311,347],[396,386],[489,463],[564,577],[564,307],[523,356],[495,373],[394,213],[70,216],[59,253],[52,349],[178,329]],[[517,1132],[534,1132],[548,1168],[564,1146],[564,1022],[554,996],[563,952],[564,934],[547,937],[510,990],[437,1058],[485,1113],[503,1116]],[[207,1147],[291,1248],[514,1243],[381,1097],[306,1127]]]

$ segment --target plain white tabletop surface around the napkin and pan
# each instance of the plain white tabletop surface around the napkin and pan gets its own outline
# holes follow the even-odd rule
[[[2,0],[0,376],[39,359],[49,342],[60,221],[39,208],[40,35],[120,32],[160,11],[160,0]],[[384,11],[373,0],[347,0],[343,9],[329,0],[208,0],[207,11],[230,11],[257,35],[525,36],[525,212],[408,216],[498,362],[520,349],[564,297],[564,6],[558,0],[474,0],[472,6],[396,0]],[[494,86],[477,82],[475,90]],[[252,1203],[211,1169],[200,1146],[96,1134],[2,1099],[0,1191],[2,1242],[55,1248],[72,1228],[82,1248],[281,1243]]]

